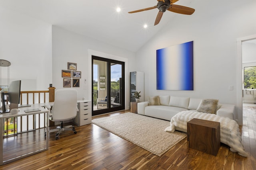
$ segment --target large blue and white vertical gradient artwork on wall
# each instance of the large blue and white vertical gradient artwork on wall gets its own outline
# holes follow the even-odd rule
[[[156,89],[194,90],[193,41],[156,50]]]

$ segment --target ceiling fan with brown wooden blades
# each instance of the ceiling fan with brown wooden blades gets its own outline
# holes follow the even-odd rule
[[[159,12],[156,16],[156,20],[155,20],[155,24],[154,24],[154,25],[157,25],[160,22],[163,14],[166,10],[168,10],[170,12],[175,12],[178,14],[186,14],[186,15],[191,15],[195,11],[195,9],[193,9],[193,8],[189,8],[186,6],[180,6],[180,5],[174,5],[173,3],[177,2],[178,0],[157,0],[157,1],[158,1],[158,3],[156,6],[153,6],[150,8],[144,8],[141,10],[131,11],[128,13],[142,12],[142,11],[158,8]]]

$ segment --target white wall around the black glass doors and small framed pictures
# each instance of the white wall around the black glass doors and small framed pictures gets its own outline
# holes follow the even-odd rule
[[[78,98],[85,97],[87,100],[91,100],[91,55],[124,61],[126,84],[129,84],[129,72],[135,69],[134,64],[129,64],[135,61],[133,52],[52,26],[52,85],[56,87],[56,90],[63,88],[61,70],[67,70],[68,62],[77,63],[77,71],[82,72],[80,87],[75,88],[78,91]],[[86,83],[84,83],[84,79],[87,80]],[[126,109],[130,106],[130,101],[127,100],[129,99],[128,92],[129,86],[126,86]]]

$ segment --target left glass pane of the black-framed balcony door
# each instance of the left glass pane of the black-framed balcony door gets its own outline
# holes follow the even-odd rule
[[[93,110],[107,109],[107,62],[93,60]]]

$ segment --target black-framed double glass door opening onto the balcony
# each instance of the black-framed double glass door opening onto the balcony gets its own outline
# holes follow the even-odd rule
[[[123,110],[124,62],[92,56],[92,115]]]

